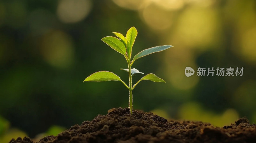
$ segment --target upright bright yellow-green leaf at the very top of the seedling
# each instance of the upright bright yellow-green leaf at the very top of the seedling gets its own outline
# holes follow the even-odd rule
[[[127,52],[128,52],[128,58],[129,59],[131,58],[131,55],[132,55],[132,46],[133,46],[133,43],[136,39],[137,34],[138,34],[138,32],[137,32],[137,29],[135,27],[130,28],[127,31],[127,34],[126,34]]]

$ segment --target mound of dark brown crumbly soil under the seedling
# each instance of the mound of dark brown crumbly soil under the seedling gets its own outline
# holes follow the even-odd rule
[[[210,123],[167,121],[153,113],[118,108],[84,121],[57,136],[47,136],[38,143],[256,143],[256,125],[244,118],[235,124],[215,127]],[[9,143],[34,143],[30,138]]]

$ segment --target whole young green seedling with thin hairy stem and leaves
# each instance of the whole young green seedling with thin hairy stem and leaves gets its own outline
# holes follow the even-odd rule
[[[111,80],[121,81],[124,84],[124,86],[127,87],[130,91],[129,108],[130,108],[130,112],[132,115],[132,90],[134,89],[134,87],[136,87],[137,84],[141,80],[151,80],[154,82],[165,82],[163,79],[158,78],[155,74],[149,73],[146,76],[144,76],[143,78],[141,78],[139,81],[137,81],[137,83],[135,85],[132,86],[132,76],[136,73],[144,74],[142,72],[139,72],[139,70],[137,70],[137,69],[134,69],[134,68],[132,69],[131,68],[132,64],[134,63],[135,60],[137,60],[143,56],[147,56],[152,53],[160,52],[160,51],[163,51],[163,50],[168,49],[173,46],[164,45],[164,46],[156,46],[156,47],[152,47],[149,49],[145,49],[145,50],[139,52],[137,55],[135,55],[133,57],[133,59],[131,60],[132,46],[133,46],[135,38],[138,34],[136,28],[135,27],[130,28],[127,31],[126,37],[124,37],[124,35],[122,35],[120,33],[116,33],[116,32],[113,32],[113,33],[116,35],[117,38],[112,37],[112,36],[107,36],[107,37],[102,38],[101,40],[103,42],[105,42],[108,46],[110,46],[112,49],[114,49],[117,52],[124,55],[124,58],[126,59],[127,64],[128,64],[128,69],[121,69],[121,70],[129,72],[129,86],[127,86],[124,83],[124,81],[121,80],[116,74],[114,74],[112,72],[107,72],[107,71],[95,72],[92,75],[90,75],[89,77],[87,77],[86,79],[84,79],[84,81],[111,81]]]

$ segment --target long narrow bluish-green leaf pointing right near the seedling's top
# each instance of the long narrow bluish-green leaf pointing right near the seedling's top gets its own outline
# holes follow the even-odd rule
[[[141,51],[140,53],[138,53],[137,55],[135,55],[133,57],[133,61],[135,61],[138,58],[141,58],[143,56],[147,56],[152,53],[160,52],[160,51],[163,51],[163,50],[171,48],[171,47],[173,47],[173,46],[172,45],[164,45],[164,46],[156,46],[156,47],[152,47],[149,49],[145,49],[145,50]]]

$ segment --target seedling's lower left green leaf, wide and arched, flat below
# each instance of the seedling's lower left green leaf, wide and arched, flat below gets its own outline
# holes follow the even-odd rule
[[[112,72],[107,72],[107,71],[101,71],[101,72],[95,72],[84,81],[122,81],[117,75],[115,75]]]

